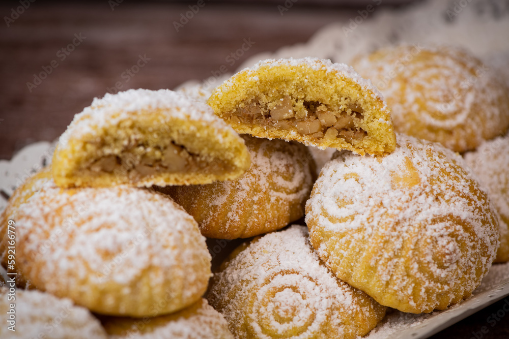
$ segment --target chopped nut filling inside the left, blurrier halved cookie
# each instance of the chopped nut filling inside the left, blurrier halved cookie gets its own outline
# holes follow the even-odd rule
[[[101,149],[104,155],[90,161],[80,172],[89,175],[106,172],[136,179],[162,172],[193,173],[205,170],[209,173],[221,173],[230,170],[226,162],[191,153],[184,146],[174,142],[165,147],[137,144],[124,147],[120,152],[115,152],[113,148],[101,147]]]

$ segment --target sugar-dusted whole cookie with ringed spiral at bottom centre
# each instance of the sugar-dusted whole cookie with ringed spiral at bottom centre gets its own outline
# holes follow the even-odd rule
[[[214,275],[207,296],[244,338],[357,338],[386,308],[337,280],[292,226],[241,245]]]

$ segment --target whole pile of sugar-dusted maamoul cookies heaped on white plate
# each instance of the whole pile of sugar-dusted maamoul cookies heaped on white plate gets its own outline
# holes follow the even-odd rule
[[[95,99],[0,218],[16,335],[356,338],[469,297],[509,259],[508,90],[450,48],[383,78],[408,48]],[[212,274],[205,237],[249,239]]]

